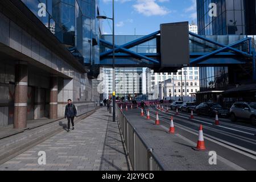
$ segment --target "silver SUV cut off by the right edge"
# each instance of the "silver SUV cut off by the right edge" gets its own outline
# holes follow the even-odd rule
[[[235,102],[230,107],[230,118],[233,122],[238,118],[250,120],[251,124],[256,125],[256,102]]]

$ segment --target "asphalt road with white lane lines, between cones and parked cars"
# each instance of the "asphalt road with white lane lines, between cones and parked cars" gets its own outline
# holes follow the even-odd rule
[[[138,108],[139,109],[139,108]],[[160,125],[170,127],[170,117],[174,117],[176,133],[197,142],[200,124],[203,125],[205,146],[209,151],[216,151],[222,156],[247,170],[256,170],[256,127],[247,123],[232,123],[229,119],[219,118],[220,125],[214,125],[215,118],[182,113],[175,115],[175,111],[164,111],[150,106],[151,119],[155,119],[156,111],[159,113]]]

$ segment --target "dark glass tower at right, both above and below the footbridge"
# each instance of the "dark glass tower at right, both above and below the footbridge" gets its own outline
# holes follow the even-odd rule
[[[256,35],[255,2],[255,0],[197,0],[199,35]],[[251,64],[200,67],[200,93],[197,93],[197,101],[213,100],[224,106],[230,106],[232,102],[237,101],[237,98],[234,96],[228,98],[229,104],[227,104],[224,96],[229,96],[225,93],[239,85],[251,83],[252,77]]]

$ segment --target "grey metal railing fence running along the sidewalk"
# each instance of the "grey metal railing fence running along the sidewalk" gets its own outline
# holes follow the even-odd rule
[[[147,147],[136,128],[131,125],[129,119],[117,107],[118,125],[121,130],[122,140],[129,156],[131,167],[134,171],[164,171],[162,164],[155,157],[153,149]]]

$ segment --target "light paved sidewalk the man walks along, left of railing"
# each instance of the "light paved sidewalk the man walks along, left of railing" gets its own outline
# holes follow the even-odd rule
[[[46,152],[46,165],[38,152]],[[105,107],[0,166],[0,170],[129,170],[117,122]]]

